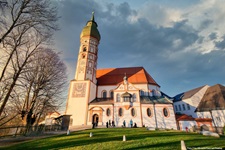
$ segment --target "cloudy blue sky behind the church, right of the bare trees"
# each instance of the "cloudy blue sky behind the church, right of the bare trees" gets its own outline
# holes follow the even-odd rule
[[[175,96],[203,85],[225,85],[223,0],[56,0],[62,52],[74,78],[80,32],[95,11],[101,34],[98,68],[143,66]]]

